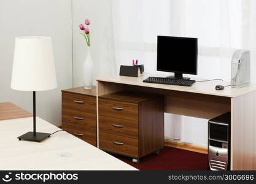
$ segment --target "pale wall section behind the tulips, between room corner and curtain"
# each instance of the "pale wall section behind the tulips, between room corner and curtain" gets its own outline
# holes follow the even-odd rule
[[[83,85],[83,61],[87,55],[85,39],[80,35],[79,25],[88,18],[91,21],[91,56],[93,59],[94,78],[114,74],[114,43],[112,35],[111,0],[73,0],[73,68],[74,87]],[[95,81],[94,81],[95,82]]]

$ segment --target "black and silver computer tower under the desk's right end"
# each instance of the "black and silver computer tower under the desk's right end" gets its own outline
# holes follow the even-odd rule
[[[208,163],[212,171],[230,170],[231,113],[208,121]]]

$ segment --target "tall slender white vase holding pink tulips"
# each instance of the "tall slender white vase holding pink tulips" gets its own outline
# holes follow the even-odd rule
[[[90,47],[87,48],[87,55],[83,63],[83,86],[85,90],[91,90],[93,86],[93,60],[91,59]]]

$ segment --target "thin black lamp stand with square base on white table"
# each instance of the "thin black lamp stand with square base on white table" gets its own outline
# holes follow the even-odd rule
[[[50,137],[51,134],[36,132],[36,91],[33,91],[33,132],[27,132],[18,137],[18,140],[30,140],[34,142],[41,142]]]

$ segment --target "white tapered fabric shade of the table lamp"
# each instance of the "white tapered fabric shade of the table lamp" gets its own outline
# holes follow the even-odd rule
[[[20,91],[44,91],[56,86],[52,39],[16,37],[10,87]]]

